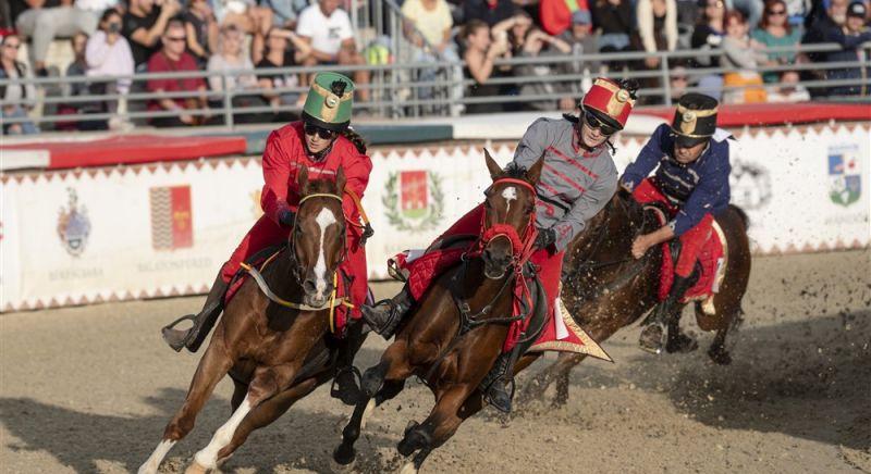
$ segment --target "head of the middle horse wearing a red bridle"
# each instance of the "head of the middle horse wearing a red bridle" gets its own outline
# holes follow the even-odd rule
[[[481,259],[484,276],[502,278],[512,264],[531,249],[536,234],[536,185],[543,160],[529,170],[508,165],[502,170],[483,150],[493,184],[484,191]]]

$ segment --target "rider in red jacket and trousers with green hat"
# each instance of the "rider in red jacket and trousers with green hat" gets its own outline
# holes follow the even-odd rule
[[[363,197],[372,162],[366,155],[363,138],[348,128],[353,97],[354,83],[351,79],[341,74],[320,73],[308,92],[303,120],[269,135],[263,152],[266,184],[260,198],[263,215],[221,267],[203,310],[163,328],[163,339],[174,350],[186,347],[191,352],[196,352],[199,349],[221,314],[224,295],[230,280],[240,270],[240,263],[262,249],[287,241],[300,199],[296,189],[296,175],[300,169],[308,169],[310,179],[331,179],[341,167],[347,179],[346,191]],[[359,222],[359,210],[347,192],[343,208],[346,219]],[[366,252],[361,245],[360,228],[354,225],[346,227],[347,257],[339,270],[351,277],[349,297],[355,308],[351,316],[358,319],[358,308],[365,302],[367,291]],[[173,328],[185,320],[193,322],[191,328]]]

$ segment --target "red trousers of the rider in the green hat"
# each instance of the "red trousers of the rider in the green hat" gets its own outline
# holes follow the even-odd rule
[[[233,254],[230,255],[230,260],[221,267],[223,280],[230,283],[230,279],[238,271],[240,263],[267,247],[283,244],[287,240],[290,233],[291,229],[275,224],[266,215],[260,216],[254,227],[242,239],[238,247],[236,247],[236,250],[233,251]],[[358,230],[351,226],[347,226],[347,257],[339,265],[339,269],[352,278],[349,297],[351,302],[354,304],[354,310],[351,315],[357,319],[360,314],[359,308],[366,301],[368,274],[366,270],[366,250],[360,246]]]

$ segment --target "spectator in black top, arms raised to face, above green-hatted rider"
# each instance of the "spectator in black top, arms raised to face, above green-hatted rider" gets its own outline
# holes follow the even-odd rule
[[[283,105],[303,107],[306,97],[304,93],[280,91],[270,92],[274,89],[286,89],[300,87],[299,76],[292,73],[269,73],[268,70],[295,66],[306,60],[311,53],[311,47],[306,41],[287,29],[272,28],[267,36],[266,51],[261,54],[262,59],[257,63],[257,82],[262,89],[263,98],[274,109],[273,122],[292,122],[297,117],[279,111]]]

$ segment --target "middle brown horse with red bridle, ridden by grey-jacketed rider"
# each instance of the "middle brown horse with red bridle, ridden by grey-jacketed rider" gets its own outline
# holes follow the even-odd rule
[[[486,192],[481,235],[501,223],[523,236],[533,225],[535,185],[543,161],[529,171],[503,172],[486,150],[484,157],[493,184]],[[525,183],[518,186],[520,179]],[[366,415],[376,404],[395,397],[413,375],[424,379],[433,391],[436,407],[422,424],[409,425],[398,444],[398,451],[405,457],[419,451],[403,472],[416,472],[433,449],[482,408],[478,387],[502,351],[508,334],[506,321],[513,311],[512,291],[503,289],[513,287],[514,265],[519,263],[508,238],[494,237],[489,241],[479,238],[483,245],[480,258],[468,258],[440,275],[403,321],[380,363],[364,374],[364,398],[342,433],[342,444],[333,452],[333,461],[340,466],[349,466],[354,461],[354,442]],[[464,302],[467,305],[461,312]]]

